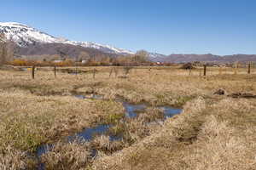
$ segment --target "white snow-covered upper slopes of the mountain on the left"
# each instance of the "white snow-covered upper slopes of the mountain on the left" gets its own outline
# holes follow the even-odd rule
[[[114,48],[95,42],[76,42],[65,38],[53,37],[35,28],[16,22],[0,22],[0,33],[3,33],[6,38],[12,39],[20,47],[27,47],[36,43],[64,43],[84,48],[96,48],[102,52],[111,54],[133,54],[131,51],[125,49]]]

